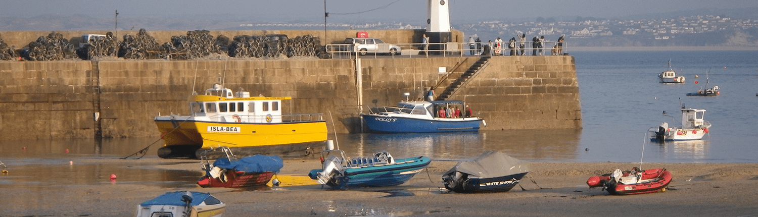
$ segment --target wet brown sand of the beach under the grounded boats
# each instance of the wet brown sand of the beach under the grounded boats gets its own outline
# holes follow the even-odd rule
[[[127,163],[133,166],[135,162],[91,161],[116,167]],[[197,161],[136,161],[141,167],[155,171],[186,170],[200,174]],[[406,184],[348,191],[328,190],[318,184],[230,189],[165,188],[119,181],[42,189],[2,188],[0,216],[134,216],[139,203],[171,191],[210,192],[227,203],[225,216],[758,215],[755,202],[758,164],[754,163],[645,163],[643,169],[668,169],[673,181],[665,192],[629,196],[608,195],[600,188],[588,188],[585,181],[590,176],[631,169],[640,166],[639,163],[531,163],[532,172],[509,192],[442,193],[440,177],[455,164],[455,161],[433,161]],[[320,168],[318,160],[289,159],[279,175],[305,176],[315,168]],[[125,178],[122,175],[118,179]],[[35,194],[42,191],[49,197],[35,198],[31,200],[37,201],[34,204],[17,202],[17,198],[27,197],[30,191]]]

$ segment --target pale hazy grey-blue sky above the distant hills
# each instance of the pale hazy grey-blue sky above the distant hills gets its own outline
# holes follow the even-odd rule
[[[426,20],[428,0],[326,0],[329,22]],[[431,0],[437,2],[438,0]],[[756,0],[446,0],[451,23],[514,20],[528,17],[603,17],[666,13],[700,8],[758,7]],[[321,23],[324,1],[318,0],[0,0],[0,17],[43,14],[90,17],[230,17],[271,22]],[[364,12],[366,11],[366,12]],[[363,12],[363,13],[360,13]],[[2,29],[0,29],[2,30]]]

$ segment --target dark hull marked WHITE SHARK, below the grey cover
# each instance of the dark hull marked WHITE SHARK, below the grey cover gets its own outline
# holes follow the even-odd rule
[[[527,172],[493,178],[468,178],[463,183],[445,183],[445,188],[457,193],[484,193],[510,191]]]

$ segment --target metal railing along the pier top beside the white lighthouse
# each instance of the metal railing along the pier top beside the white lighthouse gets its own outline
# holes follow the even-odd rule
[[[561,46],[559,46],[559,44]],[[428,48],[439,48],[434,50],[424,50],[423,43],[409,43],[409,44],[392,44],[400,47],[399,51],[390,51],[389,49],[382,51],[365,51],[365,55],[361,57],[418,57],[418,56],[451,56],[462,57],[474,55],[487,55],[486,47],[490,46],[487,42],[481,42],[479,45],[475,45],[475,48],[471,48],[469,42],[446,42],[446,43],[429,43]],[[501,42],[498,46],[493,42],[489,49],[489,54],[492,56],[547,56],[547,55],[564,55],[566,48],[568,48],[567,42],[543,42],[542,48],[535,48],[532,46],[531,41],[527,41],[524,48],[520,48],[521,42],[515,42],[515,48],[510,48],[510,42]],[[331,54],[333,58],[354,58],[360,51],[354,50],[355,45],[352,44],[330,44],[325,45],[326,51]],[[399,54],[397,54],[399,53]]]

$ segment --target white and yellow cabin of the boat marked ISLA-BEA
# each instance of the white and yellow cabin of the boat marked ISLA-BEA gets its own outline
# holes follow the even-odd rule
[[[248,91],[232,94],[219,84],[193,95],[189,110],[193,116],[207,116],[221,122],[282,122],[281,101],[289,97],[250,97]]]

